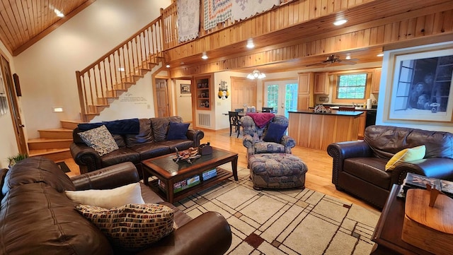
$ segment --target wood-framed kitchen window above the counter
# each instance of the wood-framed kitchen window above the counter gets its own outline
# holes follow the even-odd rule
[[[371,86],[369,73],[335,73],[333,74],[333,103],[362,103],[369,97]]]

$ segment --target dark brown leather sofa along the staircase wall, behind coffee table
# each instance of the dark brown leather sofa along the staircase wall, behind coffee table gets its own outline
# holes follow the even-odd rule
[[[74,143],[69,146],[72,158],[79,165],[81,173],[130,161],[134,163],[141,175],[142,160],[173,153],[176,151],[175,148],[187,150],[190,147],[200,146],[200,140],[205,136],[201,130],[188,129],[187,139],[166,140],[170,121],[181,123],[183,119],[179,116],[139,119],[138,134],[113,133],[119,149],[103,156],[84,143],[78,134],[81,129],[76,128],[72,132]]]

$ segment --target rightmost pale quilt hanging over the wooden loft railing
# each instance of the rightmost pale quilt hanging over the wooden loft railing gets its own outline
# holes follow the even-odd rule
[[[280,5],[280,0],[232,0],[231,18],[233,20],[245,20],[256,13],[268,11],[274,6]]]

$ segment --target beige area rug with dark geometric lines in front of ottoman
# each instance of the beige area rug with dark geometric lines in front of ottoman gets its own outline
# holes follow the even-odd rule
[[[192,218],[209,210],[224,215],[233,233],[226,254],[358,255],[372,250],[379,212],[308,188],[256,191],[248,169],[238,174],[238,182],[231,178],[175,203]]]

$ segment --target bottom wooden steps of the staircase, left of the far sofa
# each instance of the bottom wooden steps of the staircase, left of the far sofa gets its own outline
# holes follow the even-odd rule
[[[81,121],[60,121],[61,128],[38,130],[40,138],[28,140],[29,156],[44,156],[55,162],[72,158],[69,145],[72,143],[72,130]]]

